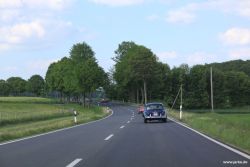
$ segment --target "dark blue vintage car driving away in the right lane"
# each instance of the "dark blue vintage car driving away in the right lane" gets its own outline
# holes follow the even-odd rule
[[[143,117],[144,123],[151,120],[167,122],[167,111],[165,111],[162,103],[148,103],[145,104]]]

